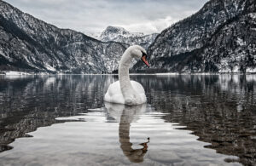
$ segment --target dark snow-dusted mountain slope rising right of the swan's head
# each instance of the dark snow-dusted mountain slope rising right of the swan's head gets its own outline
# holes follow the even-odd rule
[[[208,1],[162,31],[148,56],[150,72],[256,72],[256,1]]]

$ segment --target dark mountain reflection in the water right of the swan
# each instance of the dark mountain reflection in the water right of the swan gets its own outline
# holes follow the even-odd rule
[[[150,87],[147,96],[156,110],[171,112],[166,122],[187,126],[212,144],[207,147],[238,156],[240,163],[256,163],[255,76],[157,77],[143,85]]]

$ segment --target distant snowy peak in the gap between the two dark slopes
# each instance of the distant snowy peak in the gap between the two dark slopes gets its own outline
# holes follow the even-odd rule
[[[108,26],[102,34],[97,37],[103,42],[119,42],[127,43],[129,45],[141,45],[144,49],[148,49],[149,45],[154,42],[155,37],[158,33],[145,35],[142,32],[131,32],[125,30],[123,27]]]

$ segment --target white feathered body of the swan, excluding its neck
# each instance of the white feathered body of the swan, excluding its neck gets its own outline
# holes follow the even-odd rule
[[[143,85],[141,83],[137,83],[136,81],[131,81],[131,86],[141,98],[141,100],[137,101],[137,104],[145,103],[147,99]],[[109,85],[108,91],[104,96],[104,100],[111,103],[125,104],[125,98],[120,89],[119,81]]]

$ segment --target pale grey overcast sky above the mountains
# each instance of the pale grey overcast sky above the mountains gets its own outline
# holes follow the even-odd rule
[[[208,0],[6,0],[40,20],[91,35],[107,26],[160,32]]]

